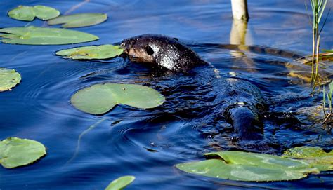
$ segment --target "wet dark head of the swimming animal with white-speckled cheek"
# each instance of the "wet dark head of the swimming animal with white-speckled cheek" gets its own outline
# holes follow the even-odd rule
[[[159,34],[134,36],[122,41],[120,46],[134,62],[149,62],[173,72],[187,72],[207,63],[178,39]]]

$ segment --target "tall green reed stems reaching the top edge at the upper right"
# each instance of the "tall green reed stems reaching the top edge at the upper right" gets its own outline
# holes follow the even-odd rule
[[[310,0],[310,3],[313,12],[313,21],[312,22],[310,21],[312,24],[312,32],[313,32],[311,83],[315,83],[318,77],[318,68],[319,68],[318,57],[319,57],[319,47],[320,47],[320,34],[322,32],[323,27],[325,26],[327,16],[321,27],[319,26],[319,24],[322,18],[322,13],[324,13],[327,0]],[[329,14],[329,11],[327,15]]]

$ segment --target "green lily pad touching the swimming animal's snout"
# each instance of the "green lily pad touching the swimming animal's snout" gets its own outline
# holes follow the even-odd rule
[[[101,46],[84,46],[57,51],[56,55],[65,56],[72,60],[92,60],[92,59],[109,59],[123,53],[119,46],[101,45]]]

